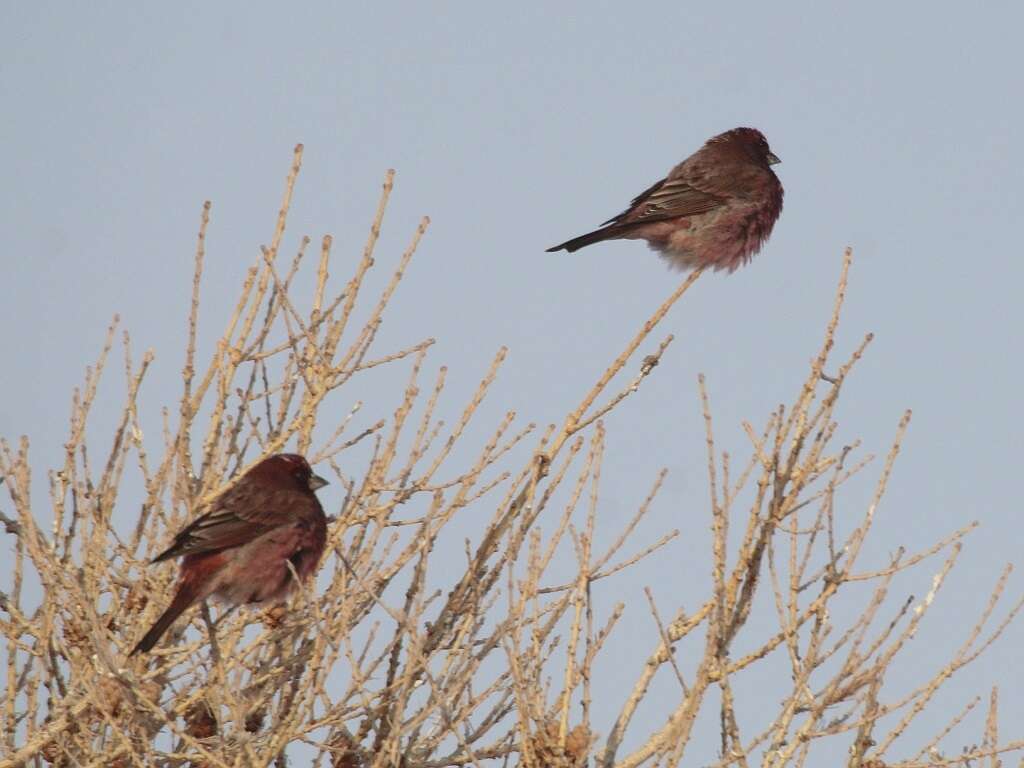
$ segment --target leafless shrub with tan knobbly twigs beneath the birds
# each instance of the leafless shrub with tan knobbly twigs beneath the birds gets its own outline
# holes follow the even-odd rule
[[[984,757],[994,766],[995,756],[1024,746],[999,740],[994,689],[985,732],[974,739],[980,745],[949,758],[938,752],[977,701],[950,716],[933,740],[908,743],[904,736],[940,686],[985,651],[1020,609],[1018,600],[996,617],[1009,569],[948,664],[914,690],[891,694],[885,686],[972,526],[924,552],[897,552],[882,569],[858,566],[907,413],[859,523],[845,537],[837,530],[837,495],[867,465],[857,443],[839,440],[834,419],[844,383],[870,341],[845,360],[830,359],[849,252],[820,350],[792,403],[760,430],[743,425],[752,447],[744,463],[733,465],[716,451],[701,380],[714,553],[707,599],[683,613],[659,608],[648,592],[650,646],[633,659],[640,674],[632,690],[615,691],[592,671],[624,606],[596,615],[592,587],[624,568],[642,568],[645,556],[676,531],[631,543],[664,478],[652,472],[650,495],[636,515],[610,548],[595,551],[606,439],[601,418],[652,375],[671,336],[632,361],[699,273],[651,314],[561,425],[516,427],[508,413],[483,444],[467,444],[467,427],[504,350],[451,426],[436,417],[446,369],[428,372],[431,340],[376,351],[381,319],[428,223],[383,291],[368,296],[391,174],[362,258],[343,289],[328,289],[332,243],[325,238],[311,300],[301,296],[294,281],[308,261],[309,241],[291,261],[281,254],[300,161],[301,146],[274,238],[249,270],[212,358],[200,365],[204,209],[182,393],[162,425],[141,423],[152,355],[136,361],[125,334],[121,420],[98,460],[95,441],[86,444],[100,375],[110,375],[115,324],[75,394],[63,463],[47,475],[49,513],[31,496],[28,439],[0,445],[13,510],[2,520],[13,556],[9,593],[0,596],[7,652],[0,765],[284,765],[288,751],[334,768],[498,761],[674,766],[709,708],[717,708],[720,730],[716,766],[817,764],[815,749],[829,740],[848,748],[850,766],[864,768]],[[635,373],[612,390],[631,364]],[[357,419],[346,386],[380,367],[403,370],[404,391],[397,402],[371,402]],[[366,410],[379,414],[376,421],[362,416]],[[157,429],[162,439],[154,451],[143,434]],[[527,441],[532,449],[523,451]],[[242,609],[216,622],[209,608],[191,611],[191,624],[179,622],[154,653],[128,658],[174,579],[174,568],[147,567],[148,558],[242,470],[286,447],[306,454],[322,474],[331,467],[346,492],[317,589],[293,599],[290,610]],[[524,454],[525,461],[517,458]],[[465,456],[473,458],[457,465],[456,457]],[[142,494],[128,494],[129,481]],[[131,529],[112,524],[116,508],[136,505]],[[453,523],[468,516],[482,528],[467,542],[463,573],[438,582],[429,567],[434,545],[456,536]],[[741,535],[730,539],[730,526]],[[551,565],[566,546],[577,574],[558,582]],[[893,609],[887,597],[896,580],[933,562],[931,592]],[[23,595],[30,569],[43,589],[34,607]],[[853,585],[867,585],[871,597],[854,621],[834,624],[834,609]],[[773,606],[777,626],[749,621],[757,601]],[[683,660],[673,648],[687,638],[702,652]],[[746,650],[735,653],[740,638]],[[792,688],[777,691],[775,711],[741,723],[735,683],[769,657],[784,659]],[[642,722],[638,706],[657,675],[675,679],[677,695],[658,702],[660,720]],[[605,702],[618,702],[613,720],[593,722],[595,690]],[[624,749],[627,736],[636,746]]]

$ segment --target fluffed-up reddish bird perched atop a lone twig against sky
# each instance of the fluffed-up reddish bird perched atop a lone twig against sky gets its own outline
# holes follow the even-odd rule
[[[731,272],[761,250],[782,211],[782,184],[771,169],[778,162],[755,128],[720,133],[600,229],[548,251],[646,240],[671,266]]]

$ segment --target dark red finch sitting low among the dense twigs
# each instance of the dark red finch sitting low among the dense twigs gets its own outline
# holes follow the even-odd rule
[[[153,559],[184,555],[174,599],[132,655],[153,648],[188,606],[211,595],[232,605],[284,600],[296,586],[289,563],[307,581],[327,544],[327,517],[313,494],[325,485],[296,454],[249,470]]]

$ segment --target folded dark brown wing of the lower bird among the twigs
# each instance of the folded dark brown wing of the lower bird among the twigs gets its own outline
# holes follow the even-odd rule
[[[294,490],[242,481],[174,537],[174,543],[153,561],[240,547],[270,528],[294,521],[297,505],[306,504],[309,500]]]

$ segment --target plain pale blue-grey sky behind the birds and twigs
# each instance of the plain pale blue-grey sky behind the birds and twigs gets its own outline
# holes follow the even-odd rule
[[[844,395],[844,439],[884,454],[903,409],[914,412],[872,561],[983,522],[905,684],[948,656],[979,593],[1020,550],[1024,6],[269,7],[2,12],[0,434],[31,436],[40,477],[60,461],[71,388],[115,311],[136,348],[157,350],[153,414],[174,401],[202,202],[213,201],[203,291],[215,338],[271,234],[298,141],[306,153],[286,252],[301,234],[331,232],[337,257],[354,259],[395,168],[380,253],[395,256],[420,215],[433,223],[385,344],[436,337],[431,359],[451,368],[453,412],[506,344],[488,415],[515,408],[546,423],[575,404],[680,276],[640,243],[544,249],[622,210],[712,134],[753,125],[782,160],[775,233],[748,268],[698,282],[667,321],[676,342],[663,366],[608,422],[602,514],[625,519],[668,466],[642,541],[677,526],[686,541],[605,599],[635,603],[625,634],[639,664],[652,638],[641,587],[656,584],[668,613],[672,580],[707,573],[697,372],[722,446],[745,455],[740,421],[760,425],[796,393],[850,245],[840,352],[867,331],[877,339]],[[94,415],[98,438],[119,402]],[[696,594],[684,593],[687,607]],[[933,730],[995,682],[1002,712],[1024,711],[1022,641],[1019,625],[954,680]],[[615,686],[635,670],[607,674]]]

